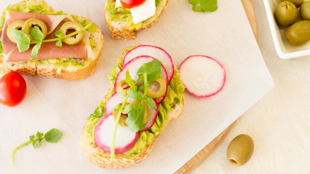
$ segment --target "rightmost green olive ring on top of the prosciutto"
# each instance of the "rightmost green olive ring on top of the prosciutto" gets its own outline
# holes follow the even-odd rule
[[[77,23],[77,22],[66,22],[64,23],[61,27],[60,27],[60,31],[62,33],[62,36],[66,36],[66,33],[68,32],[68,30],[75,30],[78,31],[81,28],[83,28],[83,25]],[[66,38],[64,40],[62,40],[62,42],[64,42],[65,44],[68,45],[75,45],[75,44],[79,44],[83,38],[84,38],[84,34],[85,32],[81,32],[78,33],[76,36],[70,37],[70,38]]]

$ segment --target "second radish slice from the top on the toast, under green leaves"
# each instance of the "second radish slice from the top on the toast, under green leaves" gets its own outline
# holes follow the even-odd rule
[[[152,56],[142,55],[138,56],[132,60],[130,60],[126,65],[119,71],[117,74],[115,84],[114,84],[114,90],[116,91],[117,84],[123,80],[126,79],[126,71],[129,71],[129,74],[131,76],[131,79],[136,81],[138,80],[137,71],[139,68],[144,64],[155,60]],[[166,84],[168,84],[168,78],[167,78],[167,72],[163,65],[161,65],[161,78],[163,78],[166,81]],[[164,97],[163,97],[164,98]],[[158,103],[162,101],[162,97],[156,99]],[[160,101],[160,102],[159,102]]]

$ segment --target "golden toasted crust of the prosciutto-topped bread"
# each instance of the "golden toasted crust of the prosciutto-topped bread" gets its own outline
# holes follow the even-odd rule
[[[43,0],[24,0],[18,2],[14,5],[18,5],[20,3],[25,3],[27,1],[34,2],[42,2]],[[13,6],[14,6],[13,5]],[[52,9],[52,7],[49,6]],[[80,19],[86,19],[90,21],[86,17],[79,17]],[[97,25],[96,25],[97,26]],[[51,78],[59,78],[66,80],[82,80],[88,76],[90,76],[97,66],[98,59],[101,56],[102,48],[103,48],[103,35],[100,28],[97,26],[97,30],[91,33],[91,38],[96,43],[96,48],[93,49],[95,53],[95,59],[88,65],[85,65],[81,68],[62,68],[61,73],[57,73],[57,67],[52,64],[31,64],[31,63],[3,63],[0,61],[0,74],[6,74],[10,71],[15,71],[21,75],[34,75],[34,76],[46,76]]]

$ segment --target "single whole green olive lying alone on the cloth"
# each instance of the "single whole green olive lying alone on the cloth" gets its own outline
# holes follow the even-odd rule
[[[254,142],[251,136],[240,134],[236,136],[228,145],[227,159],[234,166],[246,164],[254,151]]]

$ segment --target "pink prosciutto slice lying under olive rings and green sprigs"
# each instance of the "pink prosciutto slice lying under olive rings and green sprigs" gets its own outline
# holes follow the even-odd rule
[[[94,53],[89,44],[89,32],[85,31],[85,36],[82,42],[76,45],[62,44],[62,47],[55,45],[56,42],[43,43],[38,53],[37,59],[31,59],[31,50],[34,44],[25,52],[19,52],[17,45],[9,40],[6,35],[7,27],[17,20],[28,20],[35,18],[43,21],[48,28],[48,35],[45,38],[56,38],[55,32],[59,30],[61,25],[66,21],[73,21],[69,15],[46,15],[38,13],[26,13],[18,11],[6,11],[5,24],[2,29],[2,47],[4,61],[6,62],[25,62],[30,60],[44,60],[51,58],[93,58]]]

